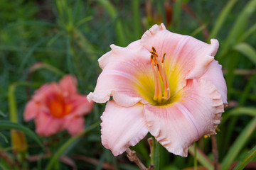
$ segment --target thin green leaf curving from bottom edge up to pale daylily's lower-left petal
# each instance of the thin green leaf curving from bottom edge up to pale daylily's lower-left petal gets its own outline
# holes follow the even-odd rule
[[[48,163],[46,170],[53,169],[53,166],[55,162],[58,162],[58,159],[63,155],[65,150],[75,141],[77,141],[82,135],[85,135],[87,132],[90,132],[90,130],[96,128],[98,125],[100,125],[100,122],[94,123],[90,125],[90,127],[86,128],[85,131],[83,131],[80,135],[76,135],[75,137],[71,137],[67,142],[65,142],[58,151],[53,155],[53,157],[50,159],[50,162]]]

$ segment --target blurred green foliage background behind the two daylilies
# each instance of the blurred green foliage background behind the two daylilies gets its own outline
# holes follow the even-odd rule
[[[73,74],[80,93],[89,94],[101,72],[97,60],[110,45],[125,47],[160,23],[174,33],[220,42],[215,60],[223,65],[228,108],[216,136],[218,162],[233,169],[249,157],[245,169],[256,169],[255,9],[255,0],[0,0],[0,169],[139,169],[125,154],[114,157],[102,147],[100,125],[80,138],[68,132],[38,137],[25,129],[22,154],[14,152],[10,129],[35,130],[33,121],[24,122],[23,109],[42,84]],[[85,130],[104,109],[95,104]],[[213,169],[210,138],[196,146],[198,169]],[[149,166],[146,138],[132,149]],[[195,149],[189,152],[183,158],[160,147],[159,169],[193,169]]]

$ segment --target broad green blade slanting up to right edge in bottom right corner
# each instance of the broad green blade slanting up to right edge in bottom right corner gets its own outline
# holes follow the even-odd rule
[[[240,132],[240,135],[235,140],[232,147],[229,149],[228,154],[225,155],[221,169],[229,169],[230,164],[232,164],[232,162],[238,156],[240,150],[242,149],[242,147],[244,147],[245,143],[249,139],[250,135],[252,135],[252,132],[254,132],[255,128],[256,128],[256,118],[253,118],[250,121],[250,123],[247,124],[245,129],[242,130],[242,132]]]

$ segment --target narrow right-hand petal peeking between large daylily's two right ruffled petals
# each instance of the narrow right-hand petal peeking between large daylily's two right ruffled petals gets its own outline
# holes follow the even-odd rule
[[[215,60],[211,62],[207,72],[203,74],[201,79],[207,79],[212,84],[215,85],[215,87],[218,89],[218,92],[221,95],[223,103],[225,104],[225,106],[227,106],[228,105],[228,101],[227,101],[228,89],[225,83],[225,79],[223,77],[221,65],[218,64],[218,62]]]

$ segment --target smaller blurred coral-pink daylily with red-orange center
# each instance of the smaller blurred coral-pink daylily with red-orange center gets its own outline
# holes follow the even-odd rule
[[[65,129],[70,135],[82,132],[83,115],[90,113],[94,103],[78,94],[77,84],[75,77],[67,75],[59,84],[44,84],[28,101],[24,119],[35,119],[38,135],[48,137]]]

